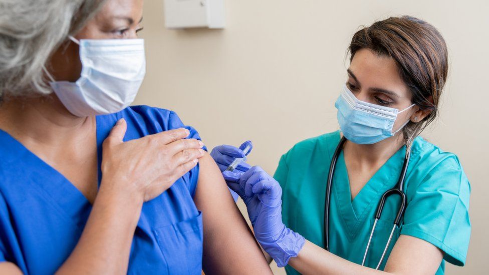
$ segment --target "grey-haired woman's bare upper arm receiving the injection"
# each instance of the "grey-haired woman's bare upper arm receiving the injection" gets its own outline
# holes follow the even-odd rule
[[[208,274],[272,274],[252,231],[239,212],[209,154],[199,159],[194,201],[202,212],[202,268]]]

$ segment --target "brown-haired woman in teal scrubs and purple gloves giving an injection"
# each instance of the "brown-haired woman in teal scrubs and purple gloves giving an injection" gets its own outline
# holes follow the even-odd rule
[[[438,112],[448,71],[445,41],[422,20],[394,17],[358,31],[349,52],[347,81],[335,103],[340,131],[296,144],[274,177],[246,164],[225,171],[228,186],[246,203],[261,246],[288,274],[439,275],[446,261],[463,265],[469,182],[454,154],[418,136]],[[326,182],[342,137],[347,141],[332,181],[327,251]],[[402,226],[375,270],[398,209],[392,197],[362,266],[377,204],[396,184],[408,152]],[[211,155],[224,171],[243,152],[223,145]]]

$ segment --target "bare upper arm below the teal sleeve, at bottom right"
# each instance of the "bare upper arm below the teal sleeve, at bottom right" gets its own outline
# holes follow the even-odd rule
[[[400,235],[384,271],[394,274],[434,274],[443,251],[433,244],[409,235]]]

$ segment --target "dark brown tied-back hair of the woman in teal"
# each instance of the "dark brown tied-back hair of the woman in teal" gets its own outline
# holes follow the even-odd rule
[[[445,40],[425,21],[410,16],[391,17],[364,27],[353,35],[348,49],[350,62],[355,53],[364,48],[394,59],[412,93],[412,102],[421,110],[431,111],[422,121],[409,121],[403,128],[409,150],[413,139],[438,113],[441,91],[448,74]]]

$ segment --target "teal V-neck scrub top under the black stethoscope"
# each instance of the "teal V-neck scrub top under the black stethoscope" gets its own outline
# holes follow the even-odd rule
[[[282,216],[286,226],[324,247],[323,223],[326,182],[340,132],[324,134],[296,144],[280,159],[275,179],[283,189]],[[348,172],[340,154],[333,177],[330,205],[330,251],[361,264],[375,210],[382,194],[396,184],[405,146],[399,149],[351,200]],[[468,215],[470,185],[458,158],[421,137],[411,147],[404,190],[407,206],[403,225],[396,228],[380,269],[400,234],[423,239],[444,252],[444,262],[463,266],[470,238]],[[375,268],[387,243],[397,212],[398,199],[387,200],[366,259]],[[299,274],[286,266],[288,274]]]

